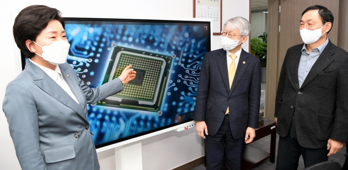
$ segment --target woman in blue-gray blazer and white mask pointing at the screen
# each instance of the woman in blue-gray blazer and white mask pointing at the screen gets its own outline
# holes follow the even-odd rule
[[[60,11],[44,5],[24,8],[14,21],[14,40],[28,59],[7,85],[2,109],[23,170],[99,170],[87,104],[135,78],[129,65],[118,78],[89,88],[66,63],[64,27]]]

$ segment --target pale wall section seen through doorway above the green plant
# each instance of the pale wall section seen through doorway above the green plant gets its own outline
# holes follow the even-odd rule
[[[251,16],[252,31],[250,38],[255,38],[263,35],[263,32],[267,32],[267,13],[255,12]]]

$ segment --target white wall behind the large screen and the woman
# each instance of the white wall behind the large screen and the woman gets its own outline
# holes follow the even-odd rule
[[[24,7],[44,4],[59,9],[64,17],[144,18],[186,17],[192,18],[192,0],[1,0],[0,1],[0,166],[2,170],[20,170],[6,117],[2,113],[2,100],[6,85],[21,71],[20,56],[16,47],[12,26],[15,16]],[[237,8],[232,6],[238,6]],[[223,0],[222,22],[242,16],[249,18],[249,0]],[[248,43],[243,48],[248,51]],[[221,36],[213,36],[211,50],[221,48]],[[142,140],[144,170],[170,170],[204,155],[203,140],[194,128],[170,131]],[[102,170],[115,169],[114,150],[98,153]]]

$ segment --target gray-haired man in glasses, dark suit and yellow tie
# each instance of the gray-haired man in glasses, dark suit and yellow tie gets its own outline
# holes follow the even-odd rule
[[[227,170],[240,170],[244,142],[252,142],[259,127],[260,59],[242,49],[250,28],[245,18],[229,19],[223,49],[203,58],[193,119],[205,139],[207,170],[221,170],[224,162]]]

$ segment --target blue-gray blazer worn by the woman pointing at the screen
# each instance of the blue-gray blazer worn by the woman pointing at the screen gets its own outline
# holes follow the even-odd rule
[[[117,78],[92,89],[69,64],[59,66],[80,105],[30,61],[6,87],[2,110],[20,166],[23,170],[99,170],[87,104],[120,92],[122,83]]]

